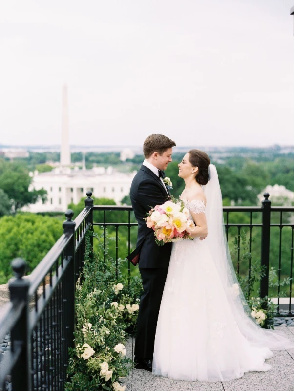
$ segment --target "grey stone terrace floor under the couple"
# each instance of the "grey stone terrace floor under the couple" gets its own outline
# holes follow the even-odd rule
[[[294,340],[294,327],[275,327],[275,332]],[[132,340],[127,342],[129,357]],[[294,391],[294,349],[275,350],[267,360],[272,365],[268,372],[245,373],[240,379],[227,382],[187,382],[154,376],[142,369],[133,369],[122,379],[126,391]]]

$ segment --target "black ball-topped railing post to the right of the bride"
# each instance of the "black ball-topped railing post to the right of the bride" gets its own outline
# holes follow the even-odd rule
[[[260,297],[269,293],[269,265],[270,265],[270,227],[271,227],[271,201],[269,193],[264,193],[262,201],[262,228],[261,228],[261,266],[264,266],[265,276],[260,280]]]

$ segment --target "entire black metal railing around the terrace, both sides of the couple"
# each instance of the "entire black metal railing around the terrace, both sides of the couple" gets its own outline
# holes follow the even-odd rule
[[[64,390],[68,348],[73,346],[75,329],[75,284],[84,267],[85,234],[88,230],[102,234],[104,261],[109,244],[107,236],[113,236],[112,258],[117,270],[119,259],[124,259],[135,246],[137,222],[132,207],[93,206],[91,195],[87,192],[85,208],[75,221],[72,221],[72,211],[67,211],[62,237],[30,276],[23,278],[22,260],[12,263],[16,279],[9,284],[11,301],[0,313],[0,339],[10,333],[11,350],[5,352],[0,362],[0,387],[11,374],[14,391]],[[225,229],[230,246],[231,238],[237,238],[234,259],[237,274],[244,274],[245,270],[250,277],[252,261],[256,259],[264,266],[266,273],[260,281],[262,297],[268,294],[271,265],[277,266],[278,282],[283,277],[291,279],[287,314],[293,315],[294,207],[272,207],[269,194],[264,196],[261,207],[224,207]],[[246,267],[242,263],[243,230],[247,230],[250,254]],[[121,245],[120,236],[126,238]],[[93,244],[93,237],[91,240]],[[129,261],[126,262],[130,282],[132,269]],[[289,270],[285,271],[285,264]],[[279,283],[276,289],[279,313]]]

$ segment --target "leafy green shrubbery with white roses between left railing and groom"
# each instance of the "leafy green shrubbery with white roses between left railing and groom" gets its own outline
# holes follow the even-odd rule
[[[75,348],[70,349],[67,391],[111,390],[131,368],[124,344],[127,330],[135,329],[141,282],[134,280],[127,288],[120,267],[116,275],[113,259],[107,254],[104,262],[104,253],[102,245],[93,253],[87,236],[83,282],[79,279],[76,289]],[[82,356],[83,351],[89,354]]]

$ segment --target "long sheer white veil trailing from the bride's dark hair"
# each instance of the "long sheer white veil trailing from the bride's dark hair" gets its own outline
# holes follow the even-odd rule
[[[265,330],[250,318],[250,309],[241,289],[238,287],[236,273],[231,261],[230,250],[225,234],[222,194],[216,167],[209,165],[209,181],[203,186],[206,196],[205,214],[208,225],[208,236],[205,239],[218,274],[222,281],[228,302],[235,316],[235,321],[242,335],[252,344],[272,349],[292,348],[294,344],[285,337],[271,330]],[[239,294],[235,294],[238,292]]]

